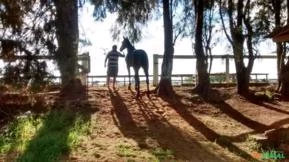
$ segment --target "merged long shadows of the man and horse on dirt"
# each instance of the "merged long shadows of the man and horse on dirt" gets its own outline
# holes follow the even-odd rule
[[[125,137],[133,138],[141,149],[149,151],[156,148],[169,149],[174,152],[175,159],[181,161],[204,161],[205,159],[206,161],[232,161],[229,157],[222,155],[218,157],[213,154],[189,132],[173,125],[162,115],[163,112],[159,110],[153,99],[135,100],[140,114],[132,115],[124,98],[117,91],[110,90],[109,93],[117,118],[114,119],[116,125]],[[134,96],[133,92],[131,96]],[[140,121],[139,118],[143,118],[144,123],[137,123],[136,120]],[[155,141],[156,144],[150,144],[149,139]],[[214,142],[213,138],[210,140]],[[201,157],[202,155],[205,157]]]

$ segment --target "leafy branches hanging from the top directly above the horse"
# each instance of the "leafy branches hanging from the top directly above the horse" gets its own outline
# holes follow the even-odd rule
[[[118,13],[117,22],[112,28],[114,39],[119,39],[119,34],[129,37],[135,43],[140,41],[142,37],[142,27],[153,17],[156,0],[149,1],[98,1],[91,0],[95,6],[93,16],[96,20],[103,20],[107,13]]]

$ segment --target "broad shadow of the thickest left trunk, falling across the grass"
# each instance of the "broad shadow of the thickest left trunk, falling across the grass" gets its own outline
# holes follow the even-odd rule
[[[69,160],[70,151],[77,142],[75,138],[79,135],[77,132],[80,130],[77,129],[82,129],[80,124],[89,125],[90,115],[96,111],[87,101],[86,90],[86,87],[81,86],[70,95],[59,93],[55,102],[49,106],[49,111],[43,116],[40,128],[26,144],[24,152],[16,157],[8,154],[6,160],[11,161],[15,158],[17,161],[42,162]]]

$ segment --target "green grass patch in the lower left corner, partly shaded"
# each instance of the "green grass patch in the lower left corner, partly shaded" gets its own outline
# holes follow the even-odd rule
[[[17,161],[58,161],[89,133],[85,115],[71,110],[54,110],[43,116],[23,116],[8,124],[0,134],[0,153],[16,152]]]

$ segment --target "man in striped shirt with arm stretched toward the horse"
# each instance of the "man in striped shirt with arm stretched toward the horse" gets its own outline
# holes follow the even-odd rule
[[[123,54],[117,51],[117,46],[113,45],[112,50],[108,52],[104,61],[104,67],[106,67],[106,62],[108,60],[106,85],[109,87],[110,77],[113,77],[113,88],[115,88],[116,77],[118,74],[118,57],[124,57]]]

